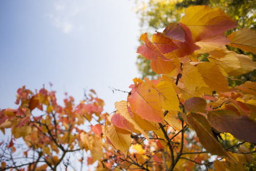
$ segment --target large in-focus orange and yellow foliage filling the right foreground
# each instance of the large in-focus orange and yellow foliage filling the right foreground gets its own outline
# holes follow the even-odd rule
[[[255,54],[256,38],[249,28],[226,37],[225,31],[236,26],[218,8],[192,6],[179,23],[170,23],[152,40],[147,33],[141,35],[144,44],[137,52],[161,76],[135,78],[127,101],[117,102],[116,112],[108,116],[104,139],[124,154],[121,168],[250,168],[256,143],[256,83],[233,88],[227,78],[255,70],[256,62],[226,45]]]

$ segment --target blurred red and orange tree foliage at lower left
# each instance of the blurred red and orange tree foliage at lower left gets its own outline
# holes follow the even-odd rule
[[[11,128],[10,139],[0,144],[1,170],[82,170],[103,152],[107,156],[101,125],[108,114],[95,91],[76,106],[71,96],[60,106],[45,88],[33,93],[24,86],[17,93],[18,109],[0,112],[1,131]],[[85,123],[90,127],[83,129]]]

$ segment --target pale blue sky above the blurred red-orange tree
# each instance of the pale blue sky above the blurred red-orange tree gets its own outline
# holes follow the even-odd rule
[[[1,1],[0,108],[17,108],[17,89],[49,82],[62,104],[64,92],[83,100],[94,89],[105,111],[130,91],[136,67],[139,19],[131,0]]]

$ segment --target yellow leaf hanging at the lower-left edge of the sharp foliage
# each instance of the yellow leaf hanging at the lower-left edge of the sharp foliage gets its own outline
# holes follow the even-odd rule
[[[117,132],[114,125],[107,127],[106,136],[116,149],[124,153],[126,158],[132,144],[131,136]]]

